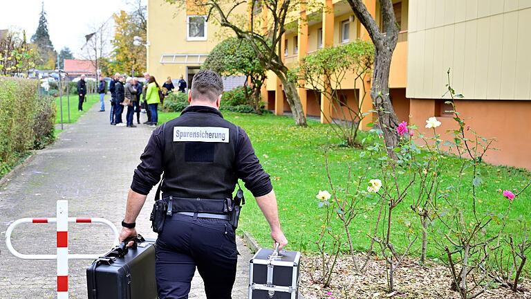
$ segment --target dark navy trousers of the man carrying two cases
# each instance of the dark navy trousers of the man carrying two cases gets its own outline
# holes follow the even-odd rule
[[[197,266],[207,298],[230,299],[237,260],[234,230],[228,221],[167,216],[156,246],[158,297],[188,298]]]

